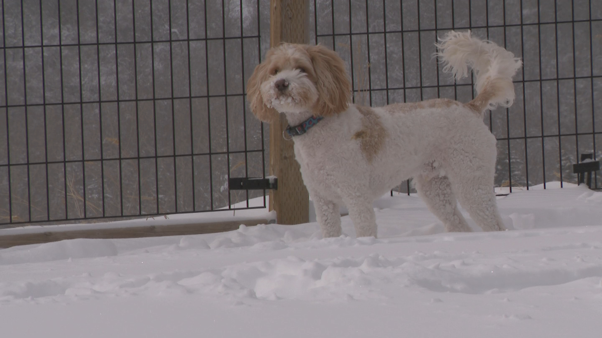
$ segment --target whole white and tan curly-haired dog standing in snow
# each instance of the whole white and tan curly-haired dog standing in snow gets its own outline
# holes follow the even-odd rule
[[[341,203],[356,236],[376,236],[373,201],[410,177],[447,231],[471,231],[456,198],[483,230],[504,230],[493,190],[496,141],[483,112],[512,104],[521,61],[470,31],[440,41],[445,71],[459,79],[473,68],[478,95],[471,102],[354,105],[343,60],[320,45],[282,44],[255,68],[250,107],[259,120],[275,122],[282,113],[293,126],[287,138],[324,237],[341,235]]]

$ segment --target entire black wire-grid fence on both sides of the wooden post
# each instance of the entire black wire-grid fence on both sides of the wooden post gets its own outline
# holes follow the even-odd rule
[[[266,171],[268,133],[244,92],[269,46],[269,0],[4,0],[0,10],[0,227],[264,195],[227,182]],[[433,58],[450,29],[522,57],[514,105],[485,120],[497,186],[576,182],[579,154],[602,155],[600,1],[314,0],[310,21],[311,42],[343,57],[365,105],[471,100],[471,79],[455,83]]]

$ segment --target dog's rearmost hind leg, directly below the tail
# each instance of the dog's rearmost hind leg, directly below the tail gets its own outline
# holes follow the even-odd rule
[[[497,210],[492,178],[474,171],[453,177],[452,186],[462,207],[483,231],[506,230]]]

